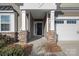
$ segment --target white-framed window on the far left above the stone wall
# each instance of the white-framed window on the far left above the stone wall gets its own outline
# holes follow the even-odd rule
[[[9,30],[10,30],[10,16],[1,15],[1,31],[9,31]]]

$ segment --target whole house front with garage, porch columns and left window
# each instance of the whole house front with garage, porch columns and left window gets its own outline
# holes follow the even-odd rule
[[[0,33],[30,42],[46,37],[49,41],[79,40],[79,4],[14,3],[0,4]]]

